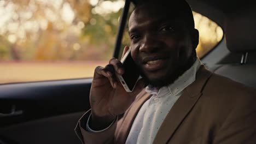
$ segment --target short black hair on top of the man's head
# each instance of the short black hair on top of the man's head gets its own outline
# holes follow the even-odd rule
[[[195,28],[192,9],[185,0],[138,0],[134,3],[135,9],[148,3],[154,3],[156,5],[158,4],[162,8],[167,8],[168,10],[174,11],[177,16],[185,18],[185,25],[189,30]],[[169,5],[174,5],[174,7],[168,8]]]

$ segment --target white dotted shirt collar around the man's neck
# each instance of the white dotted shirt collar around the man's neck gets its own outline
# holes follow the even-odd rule
[[[146,92],[153,95],[158,95],[161,97],[161,95],[166,95],[168,93],[172,95],[177,95],[178,93],[182,92],[183,89],[185,89],[187,86],[189,86],[191,83],[193,83],[196,79],[196,71],[200,68],[201,61],[199,58],[196,58],[196,61],[190,67],[185,73],[183,73],[181,76],[178,77],[176,81],[171,83],[168,86],[161,87],[160,89],[157,89],[155,87],[146,87]]]

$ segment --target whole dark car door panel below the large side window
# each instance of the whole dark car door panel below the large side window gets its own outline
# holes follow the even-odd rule
[[[74,127],[84,111],[90,109],[91,80],[1,85],[0,140],[5,143],[78,143]]]

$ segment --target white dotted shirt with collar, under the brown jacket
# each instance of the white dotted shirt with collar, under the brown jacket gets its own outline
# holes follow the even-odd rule
[[[197,58],[193,66],[178,77],[171,85],[159,89],[147,87],[146,92],[152,94],[139,110],[132,124],[126,144],[153,143],[156,133],[164,121],[167,113],[183,93],[183,89],[196,79],[196,71],[201,65]]]

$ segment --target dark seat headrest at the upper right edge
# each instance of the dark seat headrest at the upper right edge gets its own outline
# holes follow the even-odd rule
[[[229,14],[225,21],[225,40],[231,52],[256,52],[256,10]]]

